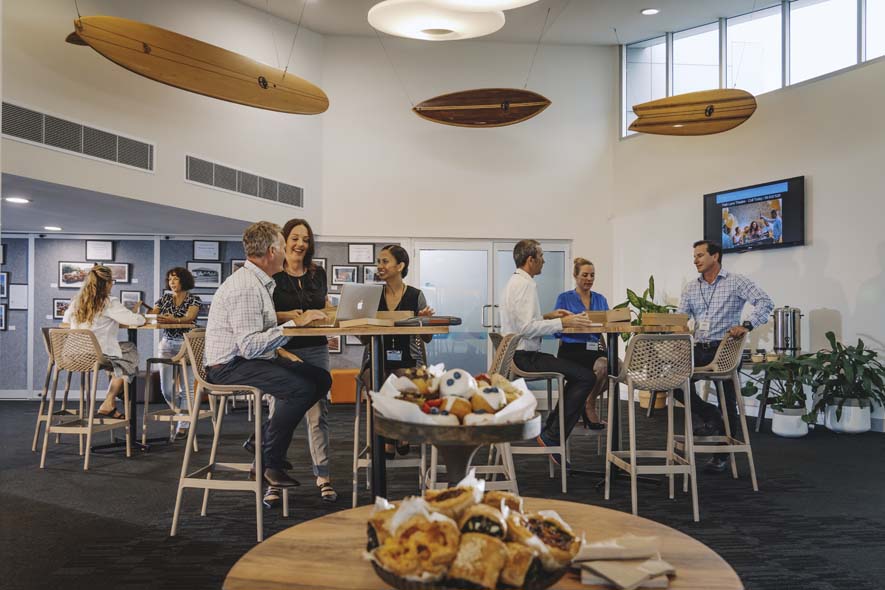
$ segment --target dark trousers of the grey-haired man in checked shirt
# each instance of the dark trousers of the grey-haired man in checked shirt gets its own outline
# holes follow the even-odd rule
[[[332,376],[325,369],[280,357],[237,357],[224,365],[209,367],[206,377],[218,385],[257,387],[276,399],[273,416],[262,425],[261,457],[266,469],[283,468],[295,427],[332,387]]]

